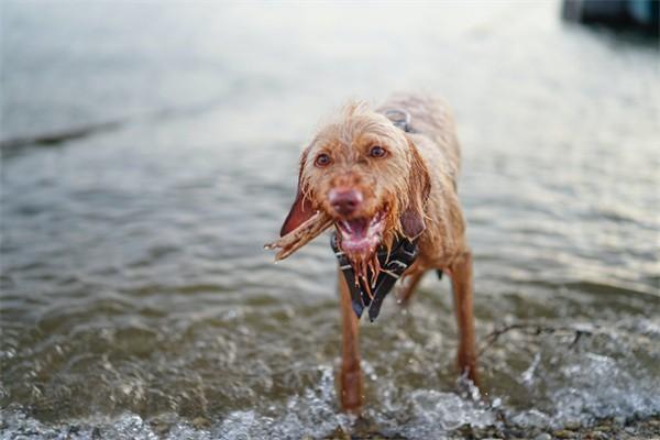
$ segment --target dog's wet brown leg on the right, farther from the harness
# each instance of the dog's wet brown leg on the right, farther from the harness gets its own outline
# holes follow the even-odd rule
[[[454,297],[454,311],[459,326],[459,369],[479,386],[476,374],[476,350],[474,346],[474,316],[472,312],[472,253],[463,252],[454,260],[449,273]]]

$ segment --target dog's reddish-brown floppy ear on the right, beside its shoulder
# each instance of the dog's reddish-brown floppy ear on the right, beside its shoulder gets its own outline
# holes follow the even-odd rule
[[[417,147],[408,141],[410,147],[410,175],[408,176],[408,206],[400,216],[404,235],[413,240],[421,234],[426,224],[426,204],[431,193],[431,178]]]

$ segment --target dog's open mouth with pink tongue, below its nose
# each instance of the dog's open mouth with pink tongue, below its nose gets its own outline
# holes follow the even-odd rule
[[[387,210],[383,209],[372,218],[338,220],[337,229],[341,234],[341,250],[353,258],[367,260],[376,252],[383,239]]]

